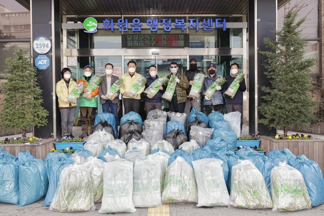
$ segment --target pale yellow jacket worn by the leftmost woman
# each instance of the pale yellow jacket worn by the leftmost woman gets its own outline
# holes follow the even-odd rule
[[[65,103],[66,97],[69,93],[77,86],[77,83],[70,78],[70,83],[68,84],[68,89],[66,88],[66,83],[64,80],[60,80],[56,83],[56,95],[58,99],[58,107],[69,107],[76,106],[77,103]]]

